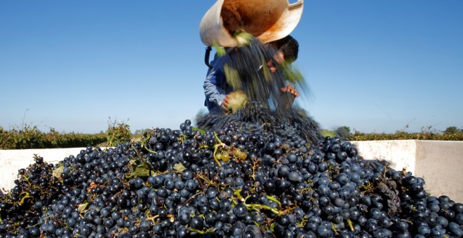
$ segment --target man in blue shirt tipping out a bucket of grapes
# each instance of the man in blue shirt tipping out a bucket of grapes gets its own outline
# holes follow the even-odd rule
[[[278,65],[294,62],[297,59],[299,44],[292,36],[286,36],[278,41],[269,43],[269,45],[277,50],[276,54],[273,56],[274,60],[270,59],[266,65],[271,73],[276,73],[279,69]],[[204,94],[206,95],[205,106],[208,107],[210,113],[221,113],[230,110],[229,104],[233,97],[234,89],[227,83],[224,66],[233,63],[233,60],[236,59],[236,54],[239,54],[238,51],[238,48],[228,48],[226,55],[217,57],[216,54],[213,62],[211,62],[213,68],[208,70],[206,80],[203,84]],[[260,68],[262,68],[262,66],[263,65],[261,65]],[[280,90],[283,93],[290,94],[292,99],[299,97],[299,92],[297,92],[292,85],[281,87]],[[292,104],[293,100],[290,101]]]

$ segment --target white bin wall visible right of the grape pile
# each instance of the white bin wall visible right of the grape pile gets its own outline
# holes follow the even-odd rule
[[[447,195],[463,202],[463,141],[353,141],[366,160],[387,160],[396,170],[405,168],[422,177],[433,196]]]

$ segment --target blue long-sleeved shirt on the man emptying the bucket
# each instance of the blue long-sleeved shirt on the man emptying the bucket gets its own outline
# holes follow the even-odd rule
[[[208,107],[209,112],[220,111],[220,106],[225,95],[232,92],[231,86],[227,83],[227,78],[225,77],[224,64],[229,62],[229,54],[233,54],[234,52],[234,50],[231,50],[222,57],[215,54],[213,61],[210,62],[213,68],[208,69],[206,80],[204,80],[203,84],[204,94],[206,95],[204,106]]]

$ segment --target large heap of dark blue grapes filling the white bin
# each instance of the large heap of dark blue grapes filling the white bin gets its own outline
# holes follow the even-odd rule
[[[36,157],[0,195],[0,237],[462,237],[463,204],[424,179],[337,137],[301,140],[186,120],[58,165]]]

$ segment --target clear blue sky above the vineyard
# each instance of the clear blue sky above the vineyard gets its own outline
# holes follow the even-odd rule
[[[177,129],[203,106],[213,0],[0,1],[0,126]],[[463,1],[305,1],[292,35],[326,129],[463,127]]]

